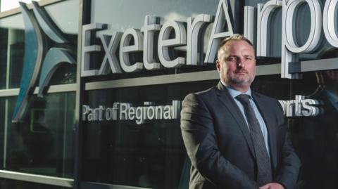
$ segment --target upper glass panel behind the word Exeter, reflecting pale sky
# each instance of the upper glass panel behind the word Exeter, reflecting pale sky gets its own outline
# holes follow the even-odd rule
[[[135,1],[135,0],[98,0],[92,1],[92,18],[91,22],[99,22],[108,24],[107,30],[96,32],[95,41],[96,44],[101,45],[99,39],[100,34],[113,34],[113,32],[125,32],[125,30],[134,28],[141,29],[144,26],[144,20],[146,15],[156,15],[163,18],[163,23],[167,21],[181,21],[187,22],[187,18],[194,17],[199,14],[210,14],[215,15],[217,11],[218,0],[203,1],[157,1],[157,0],[146,0],[146,1]],[[128,10],[128,11],[125,11]],[[185,24],[184,24],[185,25]],[[199,54],[205,54],[208,47],[208,39],[211,34],[212,24],[203,27],[205,32],[200,32],[200,38],[204,39],[202,42],[199,41],[201,49]],[[187,28],[186,28],[187,30]],[[187,32],[187,31],[186,31]],[[156,63],[161,63],[158,58],[157,41],[159,31],[154,34],[154,58]],[[170,37],[174,37],[174,32],[171,32]],[[93,42],[94,43],[94,42]],[[119,51],[119,50],[118,50]],[[119,57],[118,51],[116,56]],[[177,57],[186,57],[186,46],[177,46],[170,48],[170,58],[175,59]],[[92,53],[91,69],[99,69],[104,58],[104,52]],[[142,61],[142,52],[130,53],[132,63]],[[204,65],[189,65],[171,69],[160,69],[160,70],[146,70],[143,69],[139,72],[125,73],[122,74],[108,74],[102,77],[96,77],[95,79],[106,80],[106,79],[122,79],[122,78],[134,78],[144,77],[150,75],[160,74],[175,74],[182,72],[197,72],[202,70],[214,70],[215,65],[204,64]],[[86,78],[87,79],[87,78]],[[93,79],[93,78],[90,78]]]

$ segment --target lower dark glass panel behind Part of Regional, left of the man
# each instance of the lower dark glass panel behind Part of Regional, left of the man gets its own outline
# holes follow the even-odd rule
[[[131,103],[134,107],[144,106],[144,102],[154,106],[172,105],[173,100],[182,100],[187,93],[207,89],[215,83],[217,81],[90,91],[87,105],[92,108],[113,107],[114,103]],[[84,181],[145,188],[187,186],[189,161],[179,119],[145,120],[141,124],[135,120],[94,121],[82,126],[85,131]]]

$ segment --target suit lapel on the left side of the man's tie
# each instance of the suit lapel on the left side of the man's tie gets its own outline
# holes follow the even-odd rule
[[[246,143],[249,146],[251,154],[253,155],[253,157],[256,158],[255,151],[253,148],[253,143],[251,141],[251,136],[249,133],[249,129],[242,115],[242,112],[239,110],[239,107],[237,107],[237,104],[234,102],[234,99],[232,98],[232,96],[230,96],[230,93],[226,89],[224,89],[224,86],[221,82],[219,82],[218,86],[216,86],[216,94],[219,100],[229,110],[232,117],[234,117],[234,120],[236,120],[239,128],[241,129],[244,135]]]

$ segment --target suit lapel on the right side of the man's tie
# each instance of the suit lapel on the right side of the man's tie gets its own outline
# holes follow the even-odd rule
[[[273,111],[266,108],[268,106],[268,103],[264,103],[259,94],[252,92],[251,95],[268,129],[270,157],[273,162],[273,168],[275,169],[277,167],[277,143],[276,143],[277,130],[276,126],[274,126],[275,122],[273,119],[275,116],[273,115]]]

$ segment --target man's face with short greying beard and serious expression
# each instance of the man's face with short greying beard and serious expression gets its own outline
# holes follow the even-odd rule
[[[256,75],[253,47],[242,40],[227,41],[218,51],[216,67],[227,86],[246,91]]]

